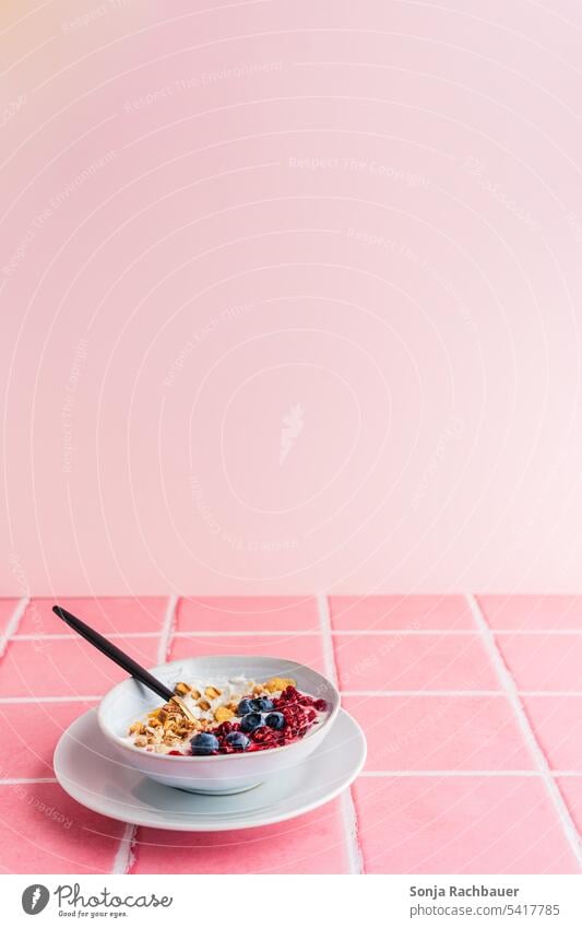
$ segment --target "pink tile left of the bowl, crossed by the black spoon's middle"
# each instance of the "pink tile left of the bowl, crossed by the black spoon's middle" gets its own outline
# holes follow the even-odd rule
[[[157,662],[157,638],[117,638],[140,663]],[[99,695],[127,677],[81,638],[12,641],[0,661],[0,696]]]

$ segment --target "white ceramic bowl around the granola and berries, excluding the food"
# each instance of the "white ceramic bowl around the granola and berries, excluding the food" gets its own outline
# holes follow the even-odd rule
[[[299,741],[283,748],[212,756],[173,756],[150,753],[128,740],[129,726],[159,706],[162,701],[133,678],[118,683],[104,696],[97,713],[99,727],[114,744],[118,757],[157,783],[190,792],[242,792],[300,764],[321,744],[340,710],[340,693],[325,677],[302,663],[274,657],[190,657],[154,667],[152,673],[170,690],[180,680],[212,681],[239,674],[258,681],[271,677],[292,677],[298,690],[328,703],[326,718]]]

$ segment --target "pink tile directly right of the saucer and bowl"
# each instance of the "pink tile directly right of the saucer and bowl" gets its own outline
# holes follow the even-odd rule
[[[368,771],[531,770],[504,696],[344,696]]]

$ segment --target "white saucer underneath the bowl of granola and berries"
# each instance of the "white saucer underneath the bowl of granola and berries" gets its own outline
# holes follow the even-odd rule
[[[270,825],[317,809],[349,786],[365,760],[364,732],[341,709],[323,743],[299,766],[236,796],[198,796],[162,786],[123,764],[91,709],[57,744],[55,775],[73,799],[110,819],[180,832],[222,832]]]

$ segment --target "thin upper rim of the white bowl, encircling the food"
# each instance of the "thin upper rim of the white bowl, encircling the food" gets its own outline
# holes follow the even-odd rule
[[[314,673],[314,674],[317,674],[317,677],[320,677],[321,680],[323,680],[326,683],[326,685],[329,686],[329,689],[333,693],[333,695],[335,697],[335,705],[333,706],[331,712],[328,713],[328,716],[323,719],[321,725],[318,726],[318,732],[317,733],[319,733],[320,731],[323,731],[324,728],[329,729],[331,727],[331,724],[335,720],[335,717],[337,716],[337,713],[340,712],[342,700],[341,700],[341,695],[340,695],[340,691],[338,691],[337,686],[328,677],[325,677],[323,673],[320,673],[319,670],[313,670],[313,668],[309,667],[308,663],[300,663],[300,661],[297,661],[297,660],[288,660],[286,658],[285,659],[284,658],[276,658],[276,657],[272,657],[271,655],[252,655],[252,654],[249,654],[249,655],[242,655],[242,656],[245,658],[249,659],[249,660],[252,660],[253,658],[257,659],[257,660],[264,660],[265,658],[268,660],[276,660],[276,661],[280,661],[281,663],[283,663],[288,669],[301,668],[301,669],[305,669],[305,670],[309,670],[310,673]],[[240,660],[241,655],[231,655],[231,654],[193,655],[191,658],[181,657],[181,658],[177,658],[176,660],[168,660],[165,663],[157,663],[157,665],[155,665],[155,667],[149,667],[146,669],[151,673],[155,673],[156,670],[162,670],[163,668],[173,667],[174,665],[181,665],[186,660],[195,660],[198,658],[200,658],[201,660],[204,660],[204,659],[209,659],[209,658],[213,658],[213,657],[219,657],[219,658],[231,659],[231,660]],[[265,748],[263,751],[260,751],[260,752],[251,751],[249,753],[249,752],[246,752],[246,751],[240,751],[240,752],[235,752],[233,754],[200,754],[200,755],[180,754],[180,755],[178,755],[178,754],[155,754],[153,752],[144,751],[143,748],[138,748],[138,747],[135,747],[135,744],[128,743],[128,742],[122,740],[121,736],[115,735],[107,727],[107,725],[106,725],[106,723],[103,718],[103,706],[104,706],[105,701],[108,700],[116,692],[116,690],[121,689],[121,686],[123,686],[129,680],[132,680],[132,679],[133,679],[132,677],[128,677],[124,680],[120,680],[119,683],[116,683],[115,686],[111,686],[111,689],[108,690],[107,693],[105,693],[104,696],[102,696],[99,704],[97,706],[97,721],[98,721],[100,730],[103,731],[105,737],[109,739],[109,741],[111,741],[118,748],[120,748],[124,751],[130,751],[131,753],[134,753],[140,757],[145,756],[147,759],[156,759],[156,760],[163,760],[163,761],[169,760],[169,761],[175,761],[175,762],[186,761],[190,764],[192,762],[198,762],[198,763],[200,763],[200,762],[209,763],[209,762],[215,762],[215,761],[225,762],[225,761],[231,761],[234,759],[242,760],[244,757],[247,757],[247,759],[256,757],[257,753],[259,753],[261,756],[264,756],[266,754],[282,753],[283,751],[287,751],[289,748],[295,748],[297,744],[305,743],[305,737],[304,737],[304,738],[299,738],[297,741],[292,741],[289,744],[280,744],[276,748]],[[135,681],[135,682],[139,682],[139,681]],[[314,733],[316,732],[313,732],[313,735]]]

